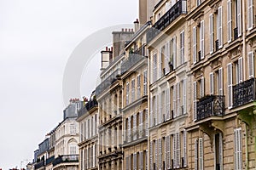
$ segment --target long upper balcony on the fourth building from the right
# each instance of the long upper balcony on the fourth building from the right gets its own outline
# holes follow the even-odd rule
[[[113,82],[116,82],[118,75],[119,75],[119,69],[117,69],[116,71],[113,71],[113,73],[108,78],[106,78],[103,82],[101,82],[101,84],[96,87],[96,96],[99,94],[102,94],[102,92],[108,89],[113,84]]]

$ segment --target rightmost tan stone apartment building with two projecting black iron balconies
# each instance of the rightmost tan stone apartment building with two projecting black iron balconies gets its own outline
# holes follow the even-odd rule
[[[188,5],[189,169],[255,169],[254,3],[194,0]]]

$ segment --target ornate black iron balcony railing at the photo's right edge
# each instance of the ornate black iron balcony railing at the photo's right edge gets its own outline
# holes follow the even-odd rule
[[[255,79],[251,78],[233,86],[233,107],[245,105],[256,99]]]

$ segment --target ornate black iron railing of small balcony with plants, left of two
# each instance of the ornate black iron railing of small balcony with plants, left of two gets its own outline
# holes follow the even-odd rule
[[[224,96],[209,95],[196,103],[196,120],[200,121],[209,116],[224,116]]]

